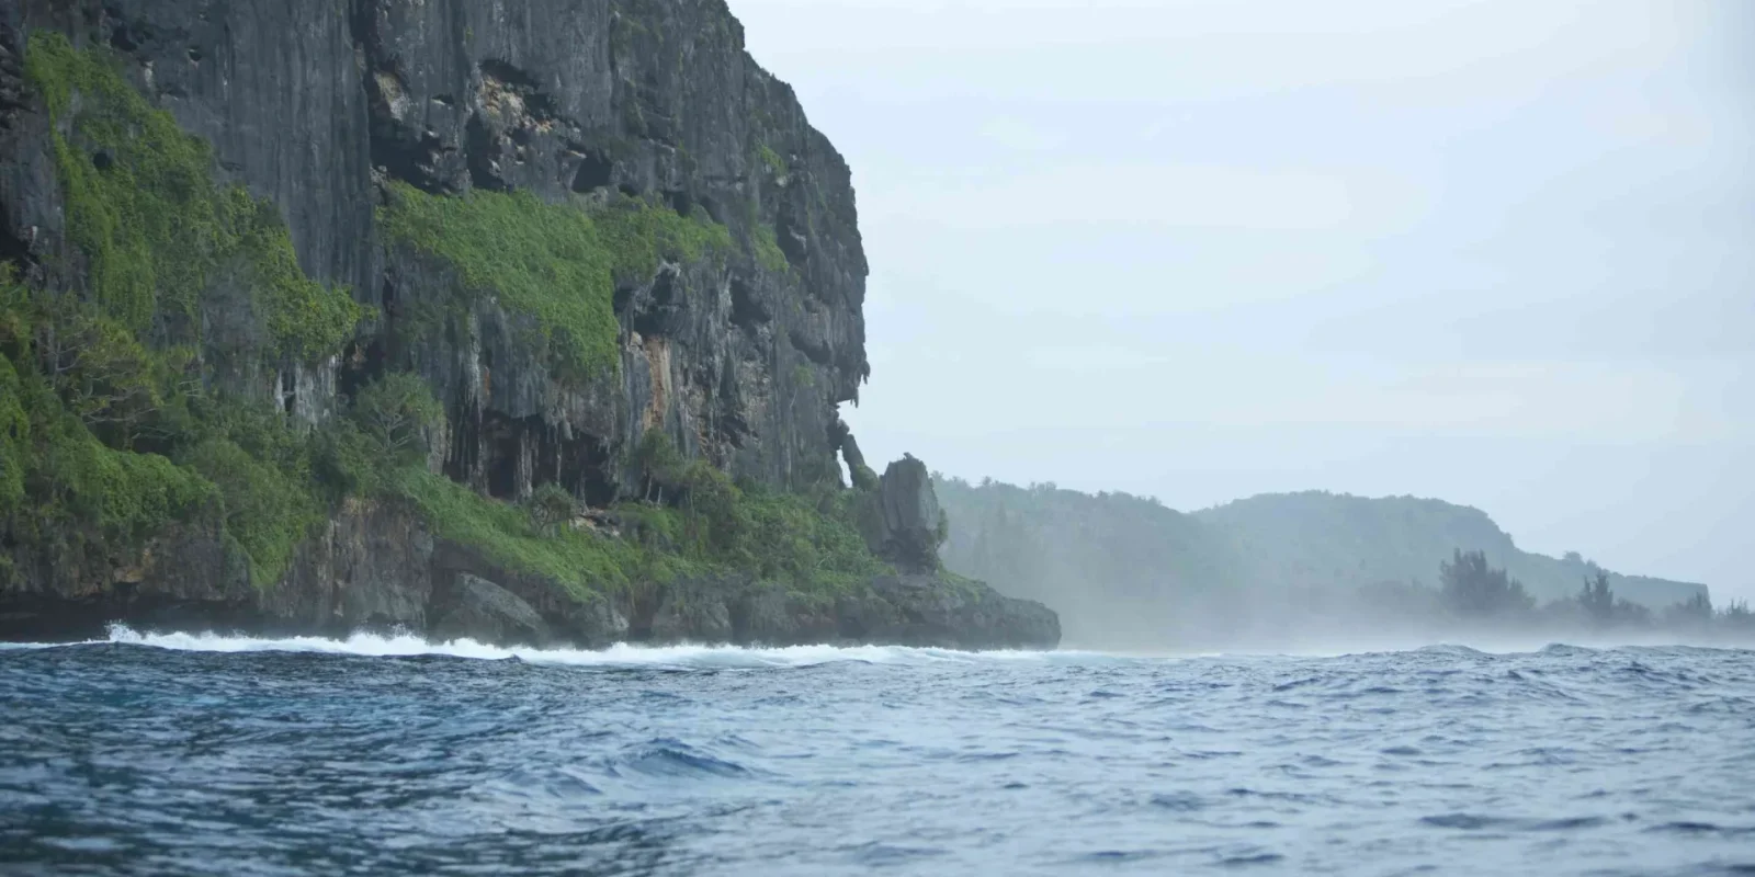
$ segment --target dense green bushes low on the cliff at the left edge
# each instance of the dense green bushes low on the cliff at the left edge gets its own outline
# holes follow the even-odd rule
[[[126,561],[179,524],[277,579],[321,519],[312,437],[207,391],[72,296],[0,279],[0,528],[51,556]]]

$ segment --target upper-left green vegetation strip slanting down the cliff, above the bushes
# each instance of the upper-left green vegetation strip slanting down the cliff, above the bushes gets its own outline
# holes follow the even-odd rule
[[[318,360],[353,333],[365,310],[304,275],[274,205],[216,186],[207,144],[153,109],[109,54],[39,30],[25,70],[54,119],[70,121],[72,137],[53,139],[67,233],[109,317],[193,342],[209,286],[244,282],[272,339],[265,353]]]

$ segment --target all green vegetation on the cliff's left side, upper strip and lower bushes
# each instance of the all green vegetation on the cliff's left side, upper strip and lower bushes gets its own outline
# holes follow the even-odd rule
[[[265,365],[333,356],[365,310],[305,277],[274,205],[214,184],[207,144],[105,51],[35,32],[25,67],[70,132],[53,146],[86,288],[0,275],[0,530],[56,565],[212,535],[272,582],[321,519],[311,440],[269,400],[207,386],[198,310],[226,288]]]

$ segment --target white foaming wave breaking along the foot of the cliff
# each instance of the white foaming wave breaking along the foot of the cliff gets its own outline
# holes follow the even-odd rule
[[[1095,652],[918,649],[906,645],[630,645],[600,651],[500,647],[460,638],[432,642],[414,633],[353,633],[326,637],[239,637],[226,633],[140,633],[126,624],[112,624],[109,638],[79,644],[11,644],[7,649],[68,649],[81,645],[140,645],[181,652],[304,652],[358,658],[463,658],[481,661],[519,660],[537,665],[604,668],[679,668],[679,670],[762,670],[799,668],[830,663],[872,665],[946,665],[990,661],[1079,661],[1111,658]]]

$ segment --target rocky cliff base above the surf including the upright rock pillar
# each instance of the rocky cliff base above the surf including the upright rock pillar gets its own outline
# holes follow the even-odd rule
[[[433,537],[398,503],[349,502],[305,542],[272,588],[212,535],[151,545],[112,582],[0,595],[0,642],[81,642],[111,624],[139,631],[314,635],[409,631],[430,640],[604,649],[614,644],[874,644],[946,649],[1053,649],[1058,616],[1034,600],[937,568],[942,514],[916,460],[893,463],[874,495],[885,509],[865,537],[897,558],[841,593],[795,591],[721,574],[581,593],[511,570],[481,549]],[[907,558],[932,558],[918,561]]]

